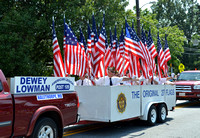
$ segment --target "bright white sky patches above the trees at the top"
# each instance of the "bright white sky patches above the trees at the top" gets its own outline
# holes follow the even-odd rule
[[[129,0],[129,5],[127,6],[126,9],[133,9],[133,6],[136,5],[135,1],[136,0]],[[157,2],[158,0],[139,0],[139,7],[140,8],[142,7],[142,10],[144,10],[146,8],[151,10],[150,7],[151,7],[152,4],[147,4],[147,3],[150,3],[152,1]],[[200,0],[197,0],[197,2],[200,3]]]

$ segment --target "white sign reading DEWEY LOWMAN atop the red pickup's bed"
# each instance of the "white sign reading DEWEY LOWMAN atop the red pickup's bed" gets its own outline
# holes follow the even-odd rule
[[[14,77],[11,79],[13,94],[74,91],[73,77]]]

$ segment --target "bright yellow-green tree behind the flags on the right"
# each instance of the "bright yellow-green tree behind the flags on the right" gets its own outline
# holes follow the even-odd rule
[[[136,11],[134,7],[134,11]],[[154,44],[157,48],[157,33],[159,31],[159,36],[161,39],[162,46],[165,45],[165,34],[167,34],[167,41],[171,53],[171,60],[168,62],[168,65],[170,63],[172,64],[174,68],[174,72],[178,72],[178,65],[181,63],[180,57],[182,53],[184,52],[183,45],[186,41],[185,35],[183,30],[180,30],[177,25],[175,26],[162,26],[160,25],[160,22],[156,19],[157,14],[151,13],[147,9],[141,11],[140,15],[140,23],[141,26],[143,26],[146,35],[149,31],[149,28],[151,29],[151,35],[154,41]],[[128,22],[131,24],[132,20],[134,21],[134,26],[136,26],[136,12],[129,11],[128,13]],[[136,28],[135,28],[136,30]],[[157,58],[156,58],[157,59]]]

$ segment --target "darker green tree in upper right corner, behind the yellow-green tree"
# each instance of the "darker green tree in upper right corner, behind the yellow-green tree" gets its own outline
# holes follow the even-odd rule
[[[175,26],[184,31],[187,41],[184,53],[179,58],[186,69],[198,67],[199,52],[191,51],[194,34],[199,35],[199,4],[196,0],[159,0],[152,6],[153,13],[161,26]]]

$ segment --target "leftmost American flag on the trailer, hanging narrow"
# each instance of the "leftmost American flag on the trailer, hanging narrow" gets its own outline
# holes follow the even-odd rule
[[[56,37],[56,31],[54,26],[54,19],[52,24],[53,30],[53,63],[54,63],[54,76],[55,77],[65,77],[64,63],[60,53],[60,47]]]

